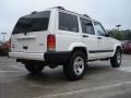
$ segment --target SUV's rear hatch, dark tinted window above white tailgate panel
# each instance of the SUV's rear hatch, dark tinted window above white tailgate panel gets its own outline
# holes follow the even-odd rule
[[[21,17],[11,36],[11,51],[46,52],[49,19],[50,11],[35,12]]]

